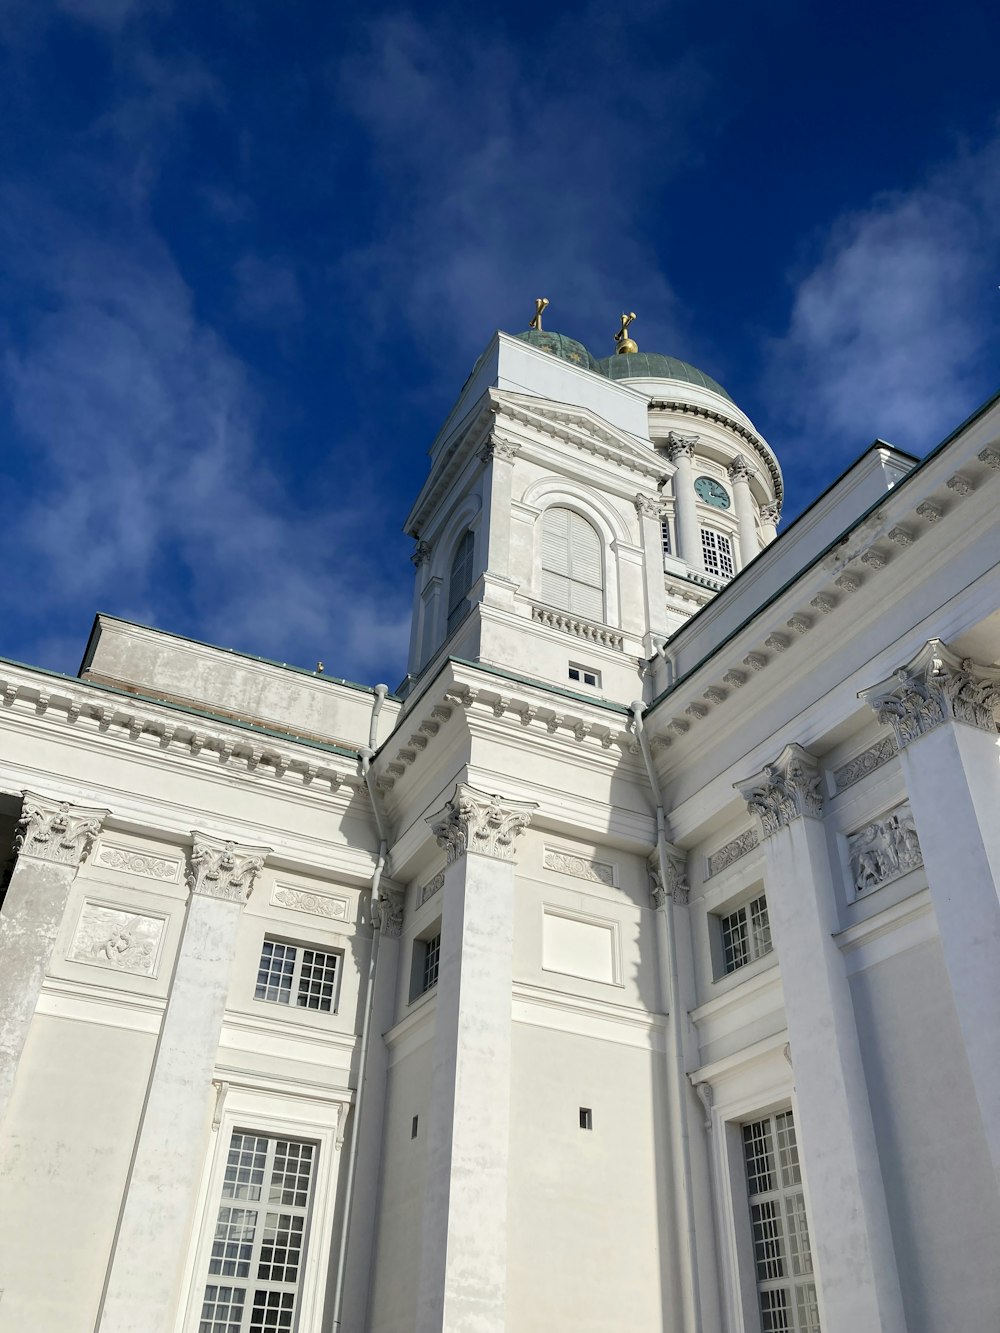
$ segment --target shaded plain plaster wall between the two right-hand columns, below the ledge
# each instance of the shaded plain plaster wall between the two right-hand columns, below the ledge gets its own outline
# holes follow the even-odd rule
[[[852,978],[909,1333],[1000,1326],[1000,1202],[936,940]]]

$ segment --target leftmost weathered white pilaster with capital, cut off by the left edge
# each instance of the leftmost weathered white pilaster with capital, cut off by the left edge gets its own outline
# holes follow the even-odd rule
[[[0,912],[0,1124],[69,889],[107,813],[24,793],[17,861]]]

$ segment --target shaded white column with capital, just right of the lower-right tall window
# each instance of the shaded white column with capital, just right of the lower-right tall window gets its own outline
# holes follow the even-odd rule
[[[905,1333],[885,1190],[839,929],[817,764],[787,745],[737,784],[765,852],[824,1329]]]

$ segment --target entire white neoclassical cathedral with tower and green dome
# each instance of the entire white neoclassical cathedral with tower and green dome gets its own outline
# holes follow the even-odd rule
[[[0,1333],[995,1333],[999,473],[496,335],[397,694],[0,664]]]

